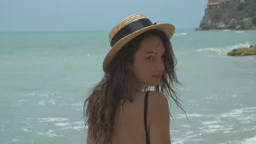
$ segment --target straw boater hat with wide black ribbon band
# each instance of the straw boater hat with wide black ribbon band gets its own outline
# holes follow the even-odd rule
[[[126,17],[120,21],[109,33],[109,41],[112,49],[109,50],[108,54],[103,61],[103,70],[105,73],[109,73],[109,67],[117,54],[117,52],[128,43],[131,39],[137,37],[150,29],[157,29],[167,34],[168,38],[171,39],[174,33],[174,26],[169,23],[160,23],[154,25],[148,19],[146,15],[135,14]]]

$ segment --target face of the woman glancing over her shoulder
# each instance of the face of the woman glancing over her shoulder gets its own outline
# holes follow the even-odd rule
[[[164,54],[165,47],[159,37],[149,36],[141,41],[131,65],[136,81],[142,86],[140,90],[159,85],[165,69]]]

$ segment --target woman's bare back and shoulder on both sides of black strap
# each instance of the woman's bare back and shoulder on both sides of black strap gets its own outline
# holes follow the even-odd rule
[[[113,144],[147,143],[144,127],[145,94],[146,92],[136,92],[132,103],[126,101],[123,107],[121,105],[118,107],[114,120],[116,127],[112,137]],[[149,92],[147,130],[150,143],[154,141],[171,143],[168,117],[168,103],[165,95],[159,92]],[[155,129],[156,127],[158,128]],[[159,134],[161,137],[158,137]]]

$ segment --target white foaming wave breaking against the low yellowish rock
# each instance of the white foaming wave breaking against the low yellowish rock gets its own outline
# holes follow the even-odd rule
[[[219,55],[219,56],[226,56],[231,50],[238,49],[241,47],[250,47],[250,44],[246,42],[245,44],[237,44],[225,47],[206,47],[203,49],[197,49],[197,52],[206,53],[207,55]]]

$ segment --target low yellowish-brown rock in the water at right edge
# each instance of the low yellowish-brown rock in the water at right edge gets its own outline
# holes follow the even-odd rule
[[[251,56],[256,55],[256,45],[250,48],[234,49],[227,54],[228,56]]]

